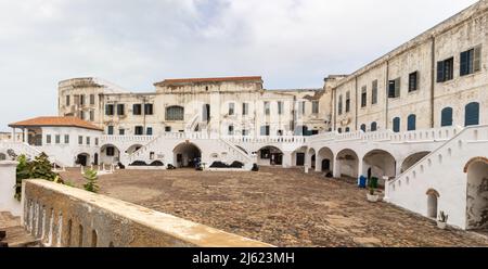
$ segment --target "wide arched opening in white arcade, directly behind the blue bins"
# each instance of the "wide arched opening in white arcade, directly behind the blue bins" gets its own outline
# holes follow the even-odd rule
[[[383,180],[383,177],[396,176],[396,159],[394,155],[384,150],[372,150],[368,152],[362,158],[363,170],[361,175],[368,175],[368,178],[377,178]]]

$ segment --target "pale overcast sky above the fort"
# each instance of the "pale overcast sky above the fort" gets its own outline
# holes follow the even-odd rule
[[[0,0],[0,130],[56,114],[57,81],[132,91],[165,78],[260,75],[320,88],[476,0]]]

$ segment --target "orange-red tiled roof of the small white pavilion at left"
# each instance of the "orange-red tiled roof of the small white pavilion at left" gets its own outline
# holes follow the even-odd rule
[[[42,126],[78,127],[90,130],[103,131],[103,129],[78,117],[36,117],[9,125],[9,127],[42,127]]]

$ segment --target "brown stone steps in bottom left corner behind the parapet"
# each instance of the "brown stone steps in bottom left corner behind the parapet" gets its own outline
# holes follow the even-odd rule
[[[2,239],[2,233],[5,238]],[[40,242],[21,226],[21,217],[14,217],[9,212],[0,212],[0,247],[36,247]]]

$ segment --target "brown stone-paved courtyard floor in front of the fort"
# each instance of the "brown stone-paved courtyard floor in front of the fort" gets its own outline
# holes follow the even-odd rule
[[[80,187],[79,169],[62,174]],[[488,246],[488,239],[386,203],[350,181],[299,169],[119,170],[100,193],[277,246]]]

